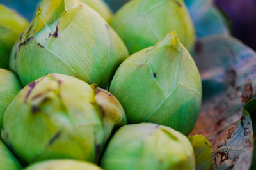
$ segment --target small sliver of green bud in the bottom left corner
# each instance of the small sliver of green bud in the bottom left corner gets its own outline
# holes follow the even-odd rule
[[[22,169],[20,162],[14,157],[12,152],[0,140],[0,169],[18,170]]]

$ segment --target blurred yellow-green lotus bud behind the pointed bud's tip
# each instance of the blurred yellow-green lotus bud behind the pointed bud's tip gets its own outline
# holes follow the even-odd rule
[[[129,1],[113,17],[111,26],[124,40],[130,53],[155,45],[170,31],[177,32],[189,51],[195,39],[183,0]]]

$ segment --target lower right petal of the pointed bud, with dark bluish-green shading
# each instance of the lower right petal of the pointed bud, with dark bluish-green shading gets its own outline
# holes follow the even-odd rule
[[[201,98],[200,92],[179,83],[143,122],[161,122],[162,125],[188,135],[195,127]]]

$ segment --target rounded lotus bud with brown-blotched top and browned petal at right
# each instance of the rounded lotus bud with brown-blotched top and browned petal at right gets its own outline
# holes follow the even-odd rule
[[[100,90],[63,74],[33,81],[6,109],[1,138],[25,163],[97,162],[113,127],[126,123],[120,103]]]

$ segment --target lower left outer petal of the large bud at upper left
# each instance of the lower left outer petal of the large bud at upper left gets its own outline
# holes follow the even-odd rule
[[[40,45],[35,38],[20,44],[15,63],[23,85],[49,73],[63,73],[77,76],[76,72],[58,54]],[[26,42],[25,41],[25,42]],[[31,57],[34,56],[34,57]]]

